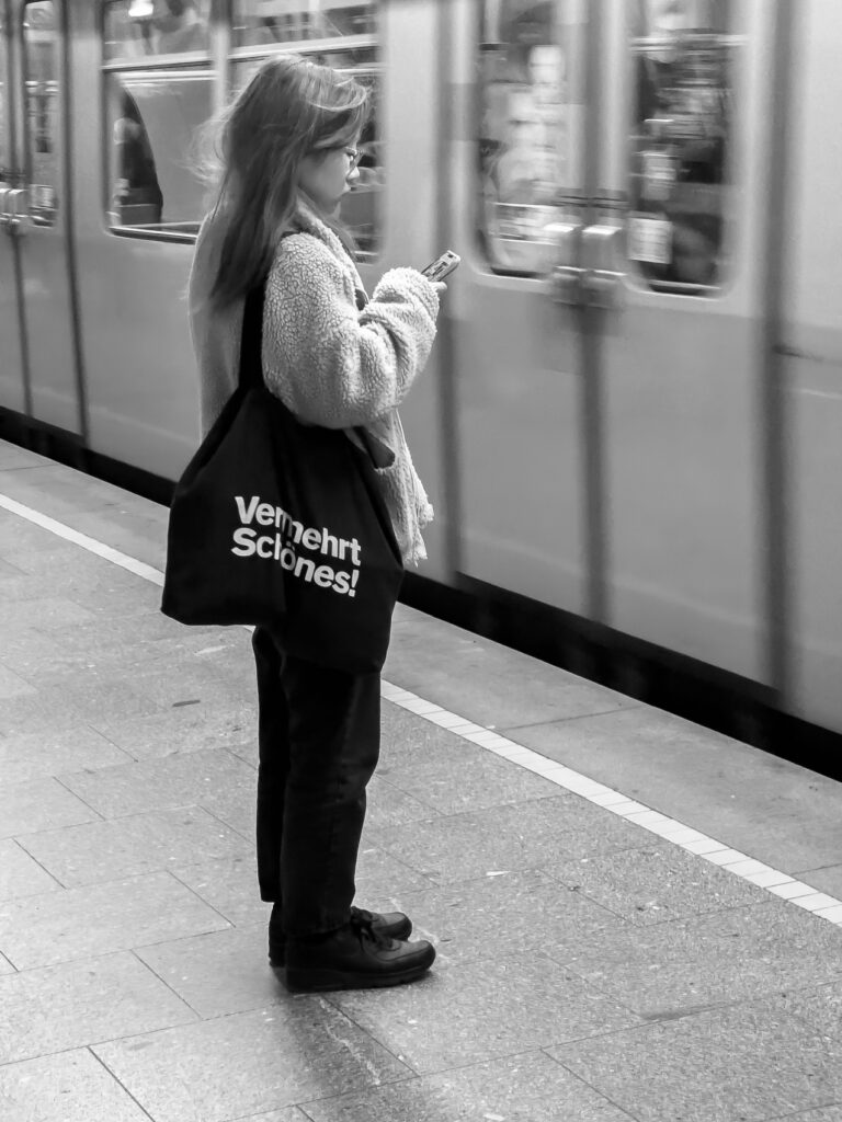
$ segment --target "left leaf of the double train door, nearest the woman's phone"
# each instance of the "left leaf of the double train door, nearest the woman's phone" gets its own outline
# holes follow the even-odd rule
[[[587,0],[466,0],[452,20],[457,569],[566,608],[586,576],[587,386],[566,278],[587,193]],[[573,260],[569,261],[573,265]]]

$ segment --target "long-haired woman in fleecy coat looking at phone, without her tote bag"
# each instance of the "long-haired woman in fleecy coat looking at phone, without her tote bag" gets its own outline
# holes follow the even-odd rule
[[[216,205],[196,245],[190,318],[205,433],[237,383],[246,294],[266,280],[266,385],[299,420],[347,430],[374,459],[404,562],[432,511],[396,406],[436,335],[439,293],[411,268],[367,298],[333,213],[358,176],[367,94],[304,58],[265,63],[221,122]],[[356,431],[351,431],[356,429]],[[254,635],[259,705],[257,866],[269,958],[294,990],[394,985],[436,957],[401,912],[354,907],[379,674],[347,674]]]

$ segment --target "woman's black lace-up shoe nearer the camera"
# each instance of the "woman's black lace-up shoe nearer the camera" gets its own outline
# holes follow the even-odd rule
[[[357,914],[323,939],[289,940],[286,986],[312,993],[401,985],[425,974],[434,958],[436,948],[424,939],[391,939]]]

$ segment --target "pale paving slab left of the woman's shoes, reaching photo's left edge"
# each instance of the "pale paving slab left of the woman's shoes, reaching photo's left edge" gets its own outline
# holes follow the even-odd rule
[[[22,971],[228,926],[175,877],[154,873],[0,904],[0,951]]]

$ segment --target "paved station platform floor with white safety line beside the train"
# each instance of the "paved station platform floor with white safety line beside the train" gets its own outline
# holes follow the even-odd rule
[[[290,994],[165,533],[0,443],[2,1122],[842,1122],[842,784],[403,606],[357,902],[438,957]]]

